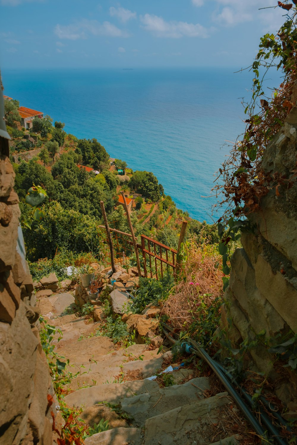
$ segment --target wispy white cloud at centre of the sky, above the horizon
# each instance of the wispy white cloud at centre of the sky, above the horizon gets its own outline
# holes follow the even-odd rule
[[[140,16],[143,28],[152,32],[156,37],[180,38],[187,37],[208,37],[208,31],[199,23],[187,22],[166,22],[162,17],[145,14]]]

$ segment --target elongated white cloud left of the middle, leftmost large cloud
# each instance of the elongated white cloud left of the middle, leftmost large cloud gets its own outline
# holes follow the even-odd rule
[[[88,34],[93,36],[129,37],[126,31],[122,31],[108,21],[101,24],[97,20],[87,19],[69,25],[57,24],[54,32],[60,39],[69,40],[85,39]]]

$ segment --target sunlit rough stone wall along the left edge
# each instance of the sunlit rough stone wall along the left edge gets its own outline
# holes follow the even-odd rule
[[[0,137],[0,442],[51,445],[47,395],[53,395],[53,387],[39,338],[14,177],[8,140]]]

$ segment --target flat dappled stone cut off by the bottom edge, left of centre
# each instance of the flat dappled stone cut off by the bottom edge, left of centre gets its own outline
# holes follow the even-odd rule
[[[114,428],[86,437],[85,445],[140,445],[140,428]]]

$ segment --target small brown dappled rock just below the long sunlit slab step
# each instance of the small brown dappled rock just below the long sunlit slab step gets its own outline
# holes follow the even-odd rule
[[[121,419],[111,408],[103,404],[85,408],[79,417],[92,427],[94,424],[98,424],[101,419],[108,420],[110,428],[125,428],[127,426],[124,419]]]

